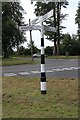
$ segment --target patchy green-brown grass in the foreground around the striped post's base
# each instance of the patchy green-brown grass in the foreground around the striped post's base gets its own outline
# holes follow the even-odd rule
[[[78,118],[78,80],[3,77],[3,118]]]

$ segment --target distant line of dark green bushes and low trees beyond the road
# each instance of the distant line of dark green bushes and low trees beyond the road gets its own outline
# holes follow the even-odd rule
[[[48,56],[53,55],[53,46],[47,46],[45,48],[45,54]],[[16,52],[13,51],[14,54]],[[33,42],[33,54],[40,53]],[[28,43],[28,47],[19,47],[18,55],[31,55],[31,43]],[[76,35],[70,36],[70,34],[64,34],[60,43],[60,55],[80,55],[80,41]]]

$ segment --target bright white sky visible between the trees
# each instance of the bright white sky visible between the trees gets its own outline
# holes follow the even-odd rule
[[[65,26],[66,29],[63,29],[63,33],[69,33],[70,35],[77,33],[77,25],[75,24],[75,14],[76,10],[78,9],[78,2],[79,0],[68,0],[69,5],[66,8],[62,8],[61,13],[68,14],[66,17],[66,20],[63,21],[62,26]],[[21,0],[21,5],[26,11],[26,14],[24,15],[25,23],[29,23],[29,19],[34,20],[36,18],[34,14],[35,9],[35,3],[31,4],[30,0]],[[23,46],[26,48],[27,43],[30,42],[30,32],[26,31],[26,38],[27,42],[23,44]],[[40,31],[32,31],[32,40],[34,41],[34,44],[40,49],[41,47],[41,34]],[[44,36],[44,46],[53,46],[53,42],[46,39],[46,36]]]

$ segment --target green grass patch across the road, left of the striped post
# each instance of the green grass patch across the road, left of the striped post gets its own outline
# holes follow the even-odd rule
[[[36,64],[36,63],[38,63],[38,61],[32,61],[31,59],[20,59],[20,58],[2,59],[2,66],[21,65],[21,64]]]

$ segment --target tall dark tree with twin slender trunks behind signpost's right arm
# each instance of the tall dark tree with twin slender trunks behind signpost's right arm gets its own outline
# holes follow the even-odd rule
[[[54,47],[53,47],[54,55],[56,55],[56,54],[59,55],[60,30],[62,29],[62,28],[60,28],[60,18],[61,18],[60,9],[61,9],[61,6],[63,6],[63,5],[64,5],[64,2],[62,2],[62,3],[49,2],[48,4],[37,2],[35,4],[36,16],[44,15],[45,13],[49,12],[51,9],[54,10],[53,17],[46,21],[46,25],[53,26],[53,27],[58,26],[57,33],[54,33],[54,32],[51,33],[51,32],[45,31],[45,35],[47,36],[47,39],[54,42]],[[66,5],[68,5],[68,4],[66,4]],[[61,20],[63,20],[63,18]]]

